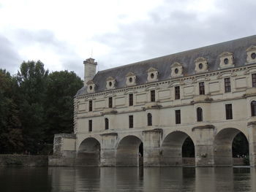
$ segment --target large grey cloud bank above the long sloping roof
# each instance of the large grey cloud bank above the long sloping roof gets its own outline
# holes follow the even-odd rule
[[[119,24],[118,32],[94,37],[110,46],[109,55],[99,58],[102,68],[129,64],[161,55],[225,42],[255,34],[256,1],[216,1],[217,12],[201,18],[187,12],[182,4],[192,1],[165,1],[154,9],[149,20]],[[174,7],[174,8],[173,8]]]

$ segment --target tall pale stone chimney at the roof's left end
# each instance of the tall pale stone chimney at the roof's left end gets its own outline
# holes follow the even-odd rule
[[[84,64],[84,81],[83,85],[86,86],[86,83],[89,82],[89,80],[92,80],[94,78],[94,75],[96,74],[96,66],[97,62],[94,62],[94,58],[87,58],[86,61],[83,61]]]

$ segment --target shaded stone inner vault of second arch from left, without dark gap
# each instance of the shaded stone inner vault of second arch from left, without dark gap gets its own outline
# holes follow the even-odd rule
[[[142,140],[128,135],[118,142],[116,148],[116,166],[139,166],[139,148]]]

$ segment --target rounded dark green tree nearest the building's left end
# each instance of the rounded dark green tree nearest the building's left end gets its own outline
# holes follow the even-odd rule
[[[53,143],[54,134],[72,133],[73,97],[81,87],[83,81],[74,72],[49,74],[45,99],[47,143]]]

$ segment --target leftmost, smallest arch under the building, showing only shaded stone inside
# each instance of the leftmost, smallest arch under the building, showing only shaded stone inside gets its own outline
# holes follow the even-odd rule
[[[78,147],[78,158],[76,164],[80,166],[99,166],[100,143],[94,137],[88,137]]]

